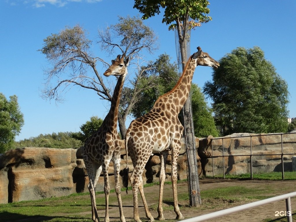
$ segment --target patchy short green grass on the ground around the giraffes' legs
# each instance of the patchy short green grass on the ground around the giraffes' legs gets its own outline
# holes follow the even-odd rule
[[[182,181],[179,182],[182,183]],[[146,184],[145,187],[154,185],[157,186],[156,184]],[[166,184],[170,184],[170,182],[167,182]],[[187,186],[187,184],[183,183],[180,186]],[[171,187],[167,189],[171,190]],[[269,185],[258,187],[256,189],[234,185],[229,187],[219,187],[216,189],[202,190],[202,205],[198,210],[221,210],[224,208],[233,207],[234,205],[242,205],[257,200],[266,199],[268,197],[274,196],[279,189],[281,188],[275,188]],[[129,187],[129,190],[131,190],[131,187]],[[114,190],[112,192],[114,193]],[[125,189],[123,189],[123,193],[124,192]],[[105,199],[102,193],[103,192],[97,192],[97,194],[101,194],[101,198],[98,198],[97,196],[96,204],[98,210],[102,210],[102,212],[104,212]],[[148,195],[149,194],[147,194],[147,197]],[[121,197],[123,201],[132,201],[131,192],[129,192],[129,195],[121,195]],[[116,195],[110,195],[109,200],[110,203],[117,202]],[[149,206],[151,210],[157,210],[157,200],[158,199],[155,198],[155,200],[153,200],[155,204]],[[188,200],[188,192],[178,192],[178,202],[180,204],[181,212],[183,210],[185,211],[189,209]],[[173,213],[172,196],[164,196],[163,203],[163,209],[165,211]],[[293,219],[296,220],[296,212],[293,213]],[[104,213],[100,213],[100,217],[102,217],[103,215]],[[65,197],[53,197],[36,201],[22,201],[9,204],[0,204],[0,218],[0,221],[6,222],[91,222],[91,206],[89,193],[72,194]],[[104,219],[100,218],[100,220],[102,221]],[[175,220],[166,221],[170,222]],[[270,221],[287,221],[287,218],[279,217],[276,218],[276,220],[265,220],[262,222]]]

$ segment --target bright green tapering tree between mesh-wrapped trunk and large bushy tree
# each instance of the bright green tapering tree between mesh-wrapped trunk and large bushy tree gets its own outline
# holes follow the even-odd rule
[[[207,137],[209,135],[218,137],[219,132],[215,126],[212,110],[207,106],[200,87],[192,83],[191,94],[194,135],[197,137]]]

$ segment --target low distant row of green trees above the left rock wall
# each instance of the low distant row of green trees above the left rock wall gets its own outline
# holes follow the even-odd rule
[[[15,142],[15,148],[22,147],[47,147],[55,149],[77,149],[81,147],[83,143],[72,137],[71,132],[59,132],[52,134],[40,134],[36,137],[30,137],[29,139],[20,140]]]

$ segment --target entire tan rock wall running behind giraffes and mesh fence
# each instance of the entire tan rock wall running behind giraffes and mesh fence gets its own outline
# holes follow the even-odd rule
[[[287,135],[287,134],[285,134]],[[233,138],[241,136],[241,138]],[[244,137],[249,136],[249,137]],[[212,140],[213,139],[213,140]],[[221,138],[196,138],[197,168],[199,175],[211,176],[223,174],[223,163],[226,173],[241,174],[250,172],[250,134],[233,134]],[[213,151],[212,151],[213,145]],[[275,155],[281,149],[281,135],[254,136],[252,146],[256,147],[252,154],[267,156],[253,156],[252,164],[256,170],[266,172],[276,171],[281,160]],[[279,148],[280,147],[280,148]],[[296,134],[284,138],[285,166],[292,165],[293,156],[296,156]],[[79,149],[49,149],[25,147],[9,150],[0,155],[0,203],[22,200],[38,200],[46,197],[59,197],[75,192],[88,192],[89,179],[82,158],[83,147]],[[222,156],[224,155],[224,162]],[[246,155],[246,156],[235,156]],[[249,156],[248,156],[249,155]],[[208,159],[214,157],[213,161]],[[124,143],[121,149],[120,169],[126,167],[126,152]],[[294,158],[296,160],[296,158]],[[209,161],[210,160],[210,161]],[[178,157],[178,180],[187,178],[186,152],[184,145]],[[128,157],[128,167],[131,173],[133,164]],[[295,166],[296,167],[296,166]],[[160,158],[157,154],[149,158],[143,172],[143,182],[159,181]],[[166,180],[170,181],[171,155],[166,162]],[[111,189],[115,188],[114,169],[112,162],[109,167],[109,182]],[[120,180],[120,185],[122,181]],[[104,178],[99,178],[96,191],[103,191]]]

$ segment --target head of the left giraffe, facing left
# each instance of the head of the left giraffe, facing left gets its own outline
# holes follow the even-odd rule
[[[120,55],[117,56],[116,60],[111,60],[112,65],[104,72],[105,76],[109,75],[125,75],[127,74],[127,66],[128,66],[128,57],[125,59],[125,54],[123,54],[120,58]]]

